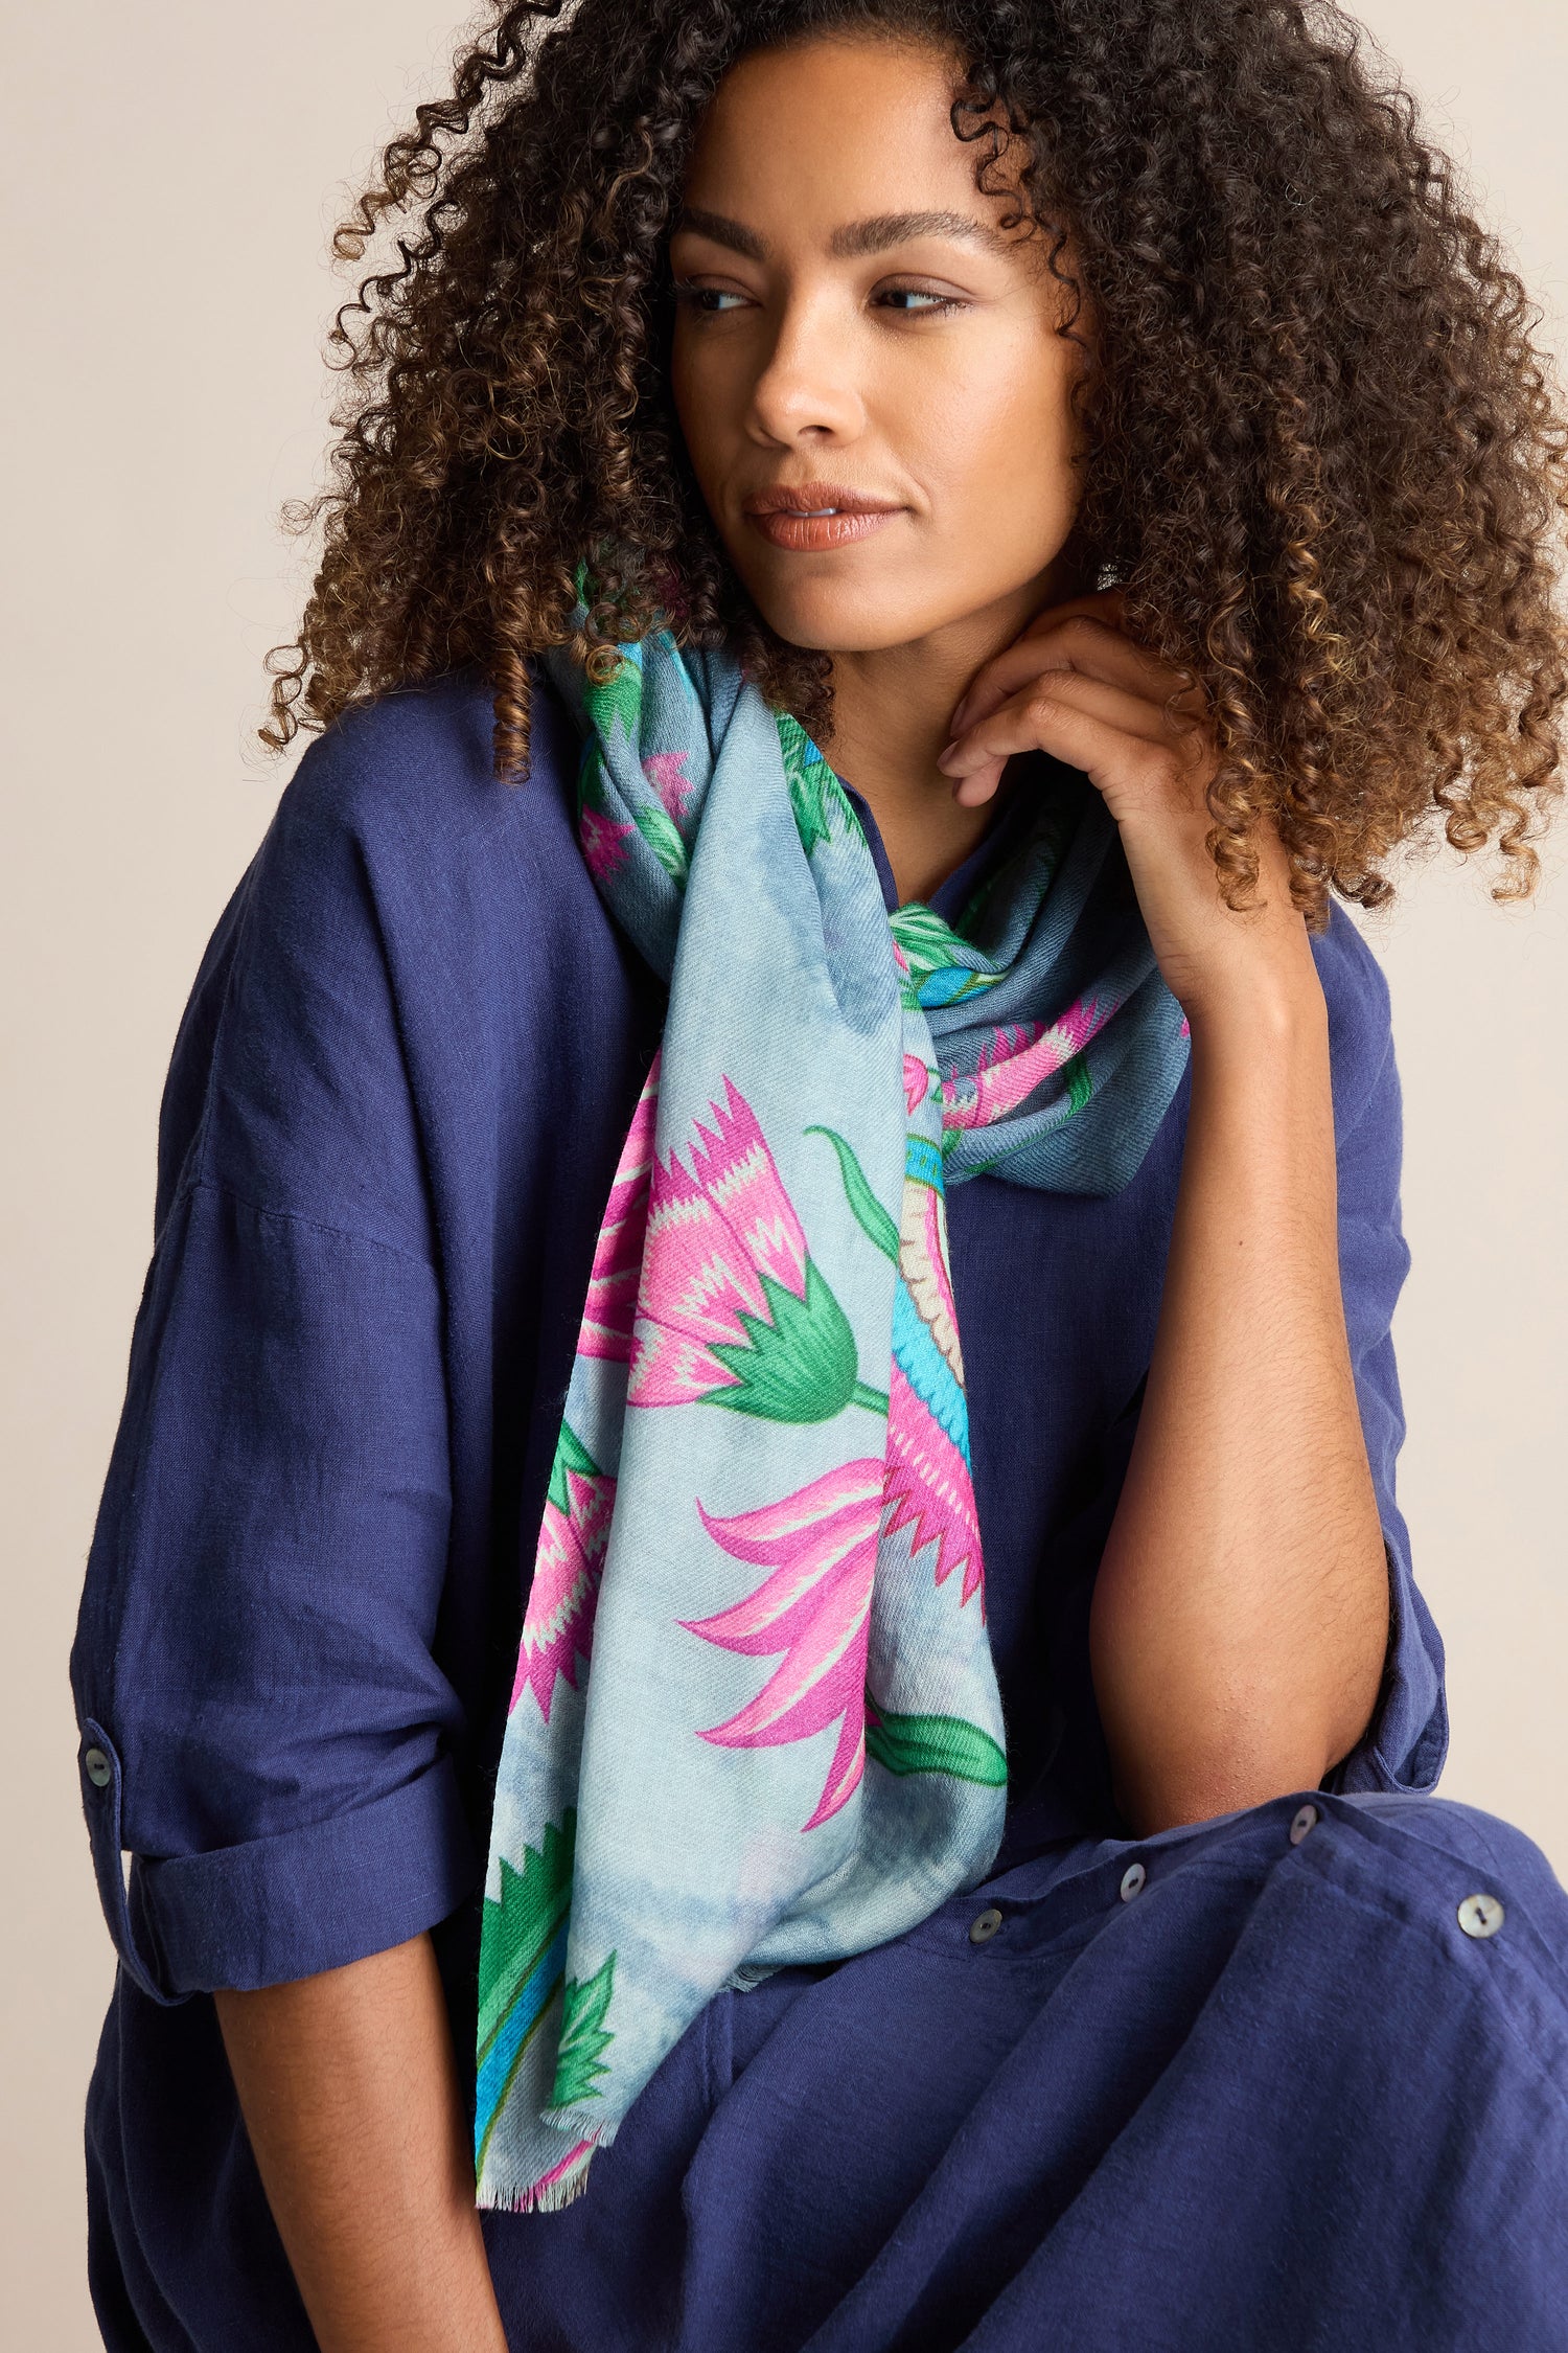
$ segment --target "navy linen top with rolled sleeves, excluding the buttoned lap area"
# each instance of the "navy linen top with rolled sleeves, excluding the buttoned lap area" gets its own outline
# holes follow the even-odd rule
[[[597,1224],[663,1014],[578,854],[574,772],[576,734],[545,687],[522,788],[491,774],[475,680],[350,715],[282,795],[179,1031],[153,1266],[73,1652],[82,1755],[101,1751],[82,1795],[122,1962],[89,2111],[94,2287],[106,2311],[134,2275],[143,2325],[181,2299],[221,2306],[263,2240],[275,2247],[254,2167],[193,2169],[193,2146],[237,2132],[202,1995],[444,1922],[454,2040],[461,2061],[473,2052],[527,1562]],[[973,885],[1006,824],[938,906]],[[1375,1718],[1331,1784],[1429,1788],[1441,1645],[1394,1504],[1389,1318],[1408,1261],[1389,1007],[1340,913],[1314,953],[1345,1313],[1394,1605]],[[950,1200],[1011,1854],[1119,1828],[1088,1595],[1150,1362],[1185,1120],[1182,1087],[1110,1200],[999,1179]],[[226,2273],[219,2245],[249,2254]],[[172,2322],[122,2341],[249,2341],[233,2320],[230,2339],[219,2308],[212,2339]]]

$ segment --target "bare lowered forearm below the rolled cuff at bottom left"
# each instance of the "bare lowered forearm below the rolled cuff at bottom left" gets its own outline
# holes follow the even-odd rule
[[[322,2353],[505,2353],[430,1939],[216,2007]]]

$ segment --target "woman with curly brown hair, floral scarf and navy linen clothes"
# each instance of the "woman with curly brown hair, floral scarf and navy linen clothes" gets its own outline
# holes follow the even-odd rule
[[[165,1104],[106,2341],[1563,2344],[1331,911],[1533,880],[1521,289],[1328,12],[555,16],[343,233]]]

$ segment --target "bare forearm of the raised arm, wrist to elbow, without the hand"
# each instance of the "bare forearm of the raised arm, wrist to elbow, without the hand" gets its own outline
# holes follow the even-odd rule
[[[1128,1819],[1164,1828],[1314,1786],[1371,1718],[1385,1642],[1302,939],[1281,991],[1192,1021],[1159,1332],[1091,1617]]]

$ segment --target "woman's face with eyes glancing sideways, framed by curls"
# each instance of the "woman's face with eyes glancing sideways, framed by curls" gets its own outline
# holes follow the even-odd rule
[[[675,402],[708,508],[792,645],[1016,626],[1079,501],[1081,346],[1041,238],[952,134],[952,66],[889,38],[743,59],[670,245]]]

